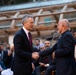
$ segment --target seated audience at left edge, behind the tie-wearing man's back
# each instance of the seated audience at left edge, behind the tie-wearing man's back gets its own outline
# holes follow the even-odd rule
[[[14,46],[10,44],[0,44],[0,75],[1,72],[10,69],[14,56]]]

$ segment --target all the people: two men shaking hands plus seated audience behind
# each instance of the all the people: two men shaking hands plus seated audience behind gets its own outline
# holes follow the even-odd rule
[[[15,34],[13,47],[0,45],[0,72],[10,68],[13,75],[76,75],[76,59],[74,57],[76,34],[69,30],[69,21],[58,22],[60,37],[56,44],[45,39],[34,39],[32,42],[34,18],[26,14],[22,19],[22,28]]]

